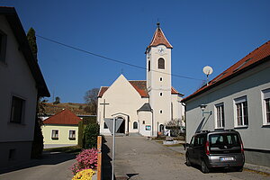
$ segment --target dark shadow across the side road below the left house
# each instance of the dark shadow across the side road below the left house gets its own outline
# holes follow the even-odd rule
[[[43,155],[40,159],[31,159],[19,165],[1,168],[0,175],[4,173],[9,173],[9,172],[25,169],[25,168],[30,168],[33,166],[57,165],[59,163],[63,163],[65,161],[75,159],[75,158],[76,158],[76,154],[72,154],[72,153],[67,154],[67,153],[43,151]]]

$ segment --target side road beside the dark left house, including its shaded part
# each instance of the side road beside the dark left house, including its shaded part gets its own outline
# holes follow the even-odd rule
[[[70,180],[69,167],[76,162],[75,156],[66,153],[46,153],[42,159],[34,159],[12,169],[5,169],[0,180]]]

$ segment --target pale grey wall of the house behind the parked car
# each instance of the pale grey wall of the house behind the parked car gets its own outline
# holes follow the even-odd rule
[[[270,62],[266,62],[240,76],[230,79],[228,82],[218,85],[206,93],[186,102],[186,139],[190,141],[196,130],[217,129],[216,105],[224,104],[225,126],[224,129],[238,130],[245,148],[270,150],[269,124],[264,122],[264,99],[262,91],[270,88]],[[236,118],[235,101],[239,97],[247,97],[248,125],[239,127]],[[207,104],[202,121],[200,104]],[[250,157],[252,158],[252,157]],[[249,158],[249,159],[250,159]],[[269,159],[270,157],[266,157]],[[266,165],[266,163],[264,164]],[[269,163],[268,163],[268,166]]]

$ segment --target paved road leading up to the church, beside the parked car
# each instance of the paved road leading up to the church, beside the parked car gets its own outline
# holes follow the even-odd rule
[[[105,148],[112,149],[112,137],[105,137]],[[110,149],[109,157],[112,157]],[[106,156],[105,154],[103,154]],[[185,166],[184,155],[142,137],[116,137],[115,176],[116,179],[157,180],[157,179],[200,179],[200,180],[259,180],[270,176],[243,172],[214,172],[202,174],[195,167]],[[108,164],[105,165],[109,168]],[[107,169],[108,170],[108,169]],[[105,172],[104,179],[109,178]],[[124,178],[126,177],[126,178]]]

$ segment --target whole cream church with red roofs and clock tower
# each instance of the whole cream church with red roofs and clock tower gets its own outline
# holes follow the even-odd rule
[[[117,133],[157,137],[166,123],[182,120],[184,94],[172,86],[171,51],[173,46],[157,23],[157,30],[146,49],[146,80],[127,80],[119,76],[98,93],[97,121],[100,133],[111,134],[104,119],[122,119]]]

